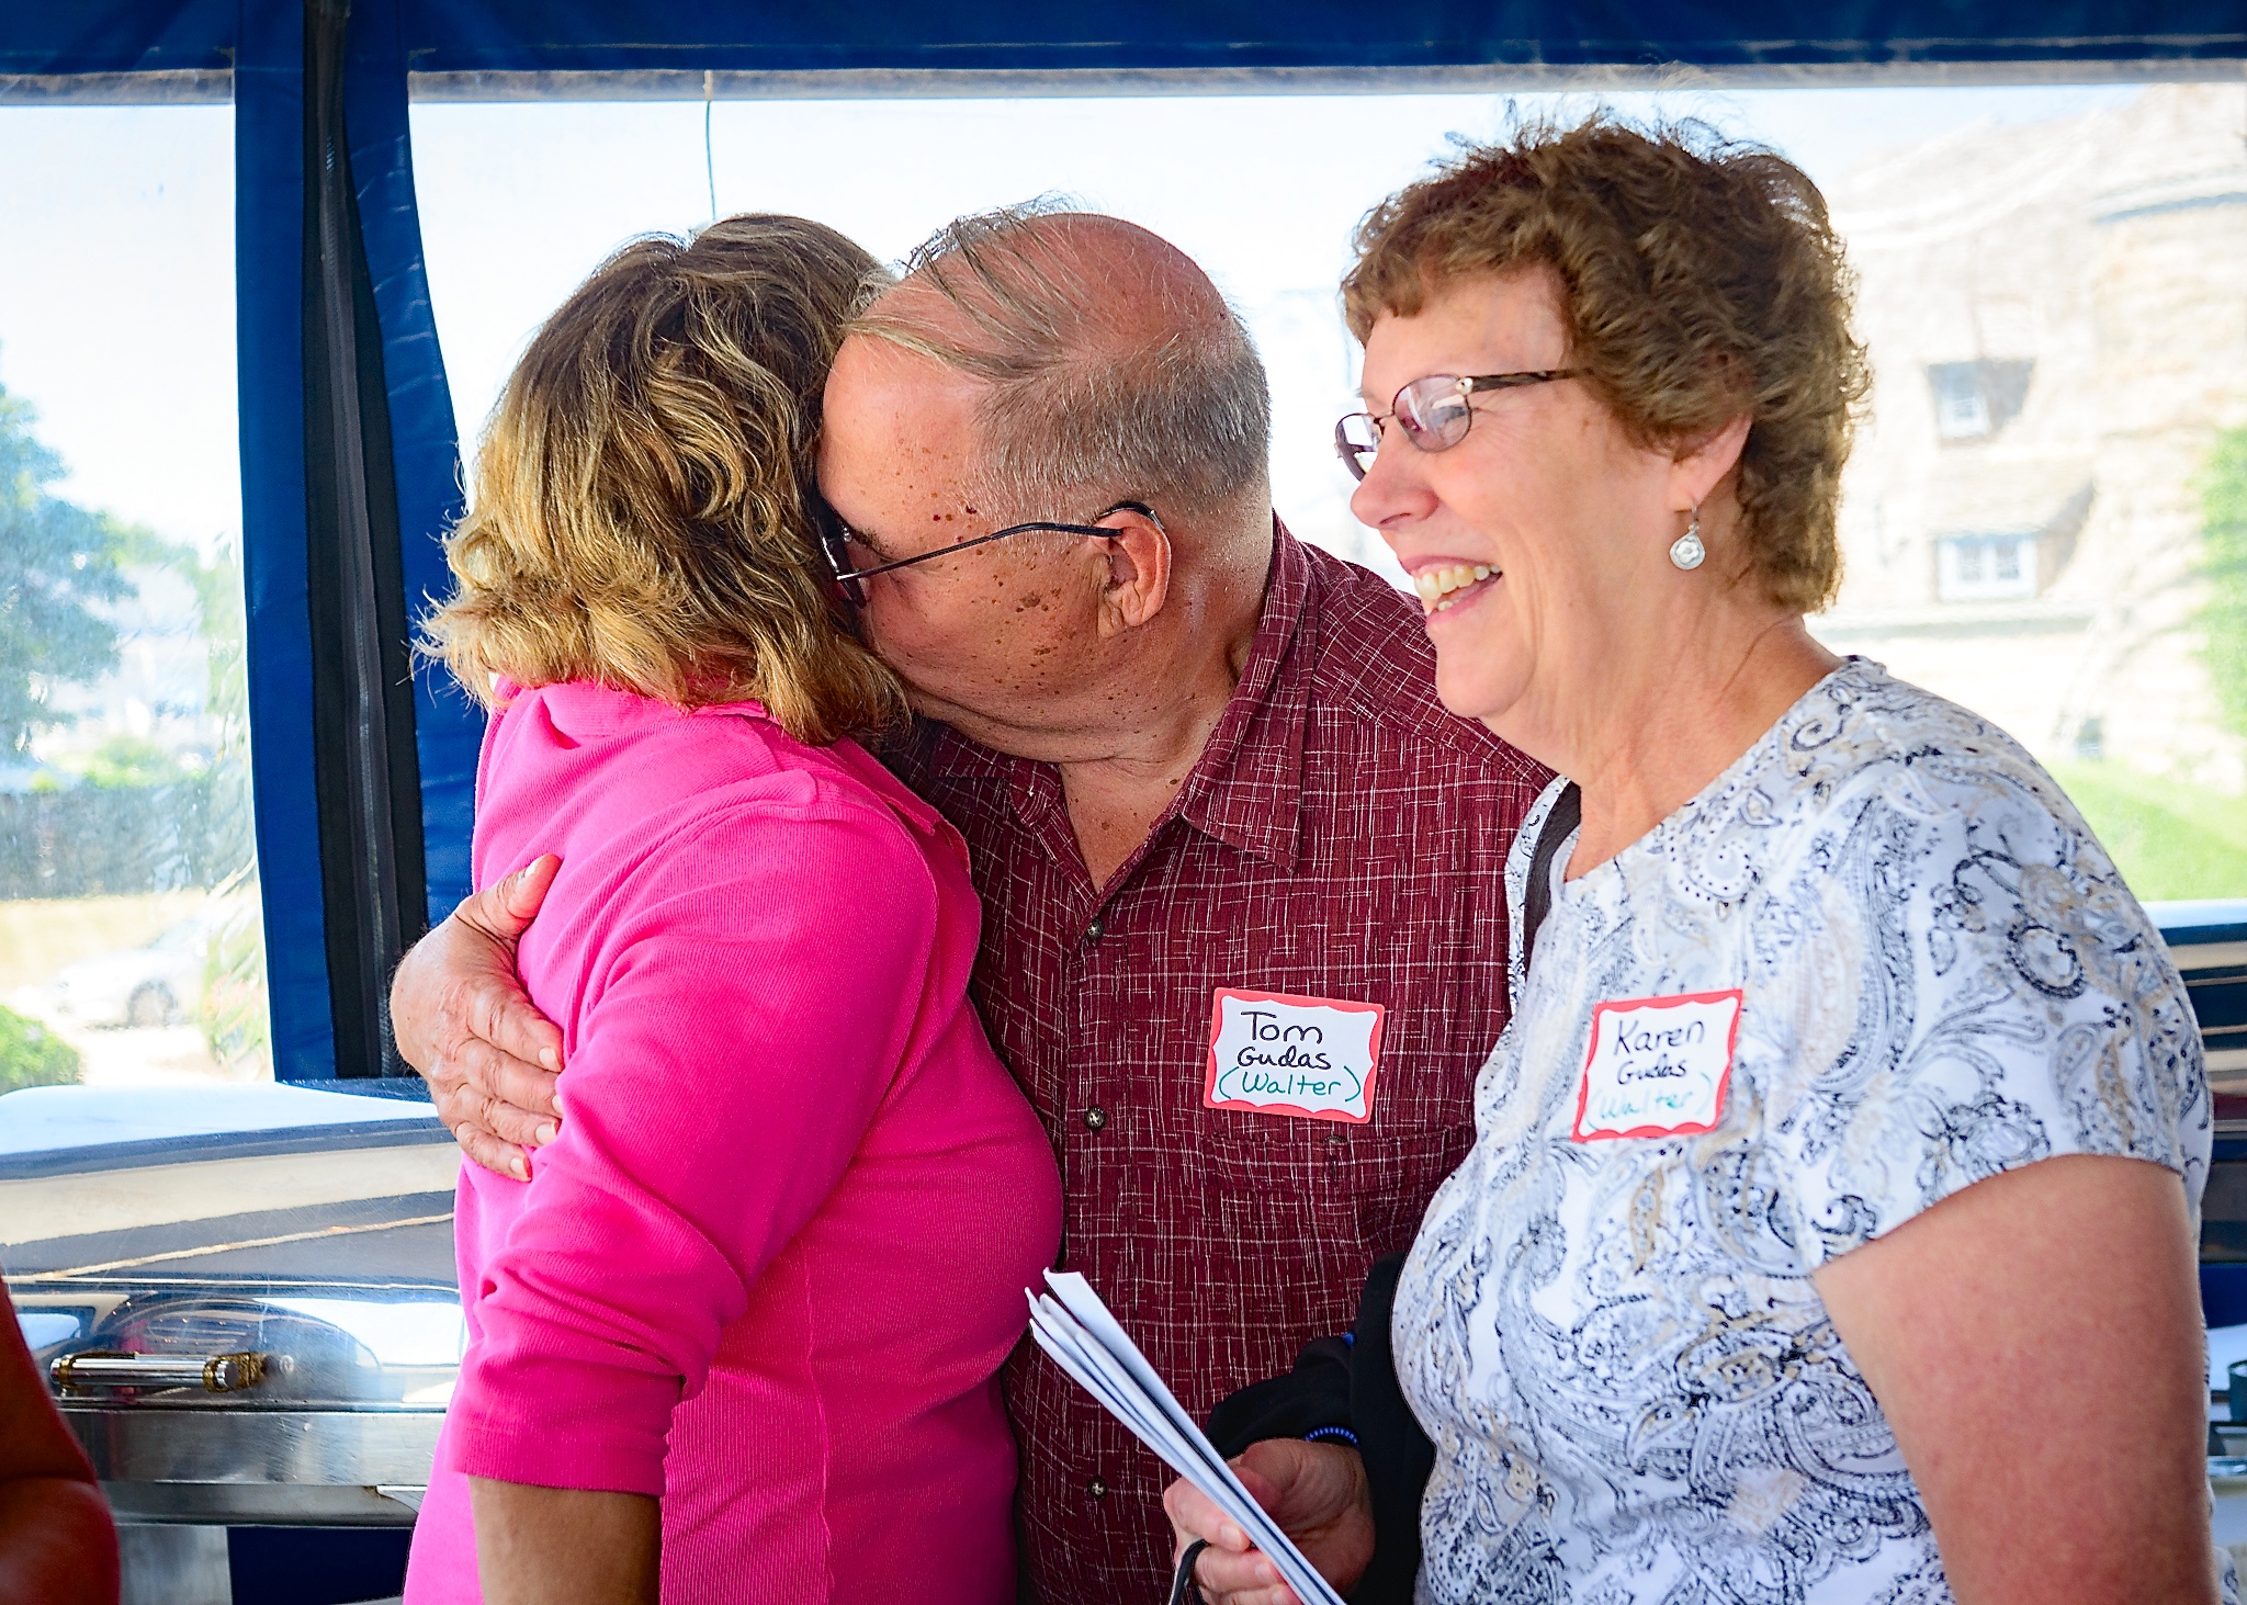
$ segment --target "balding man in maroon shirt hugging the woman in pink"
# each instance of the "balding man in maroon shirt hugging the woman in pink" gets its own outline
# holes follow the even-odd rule
[[[975,1003],[1054,1140],[1063,1266],[1198,1414],[1344,1331],[1465,1155],[1546,780],[1443,710],[1409,598],[1279,526],[1267,434],[1191,261],[1002,214],[861,319],[820,450],[845,591],[924,715],[890,762],[973,854]],[[1085,522],[975,539],[1036,519]],[[539,892],[465,904],[393,996],[501,1169],[553,1113],[506,946]],[[1038,1596],[1157,1598],[1164,1468],[1029,1344],[1007,1398]]]

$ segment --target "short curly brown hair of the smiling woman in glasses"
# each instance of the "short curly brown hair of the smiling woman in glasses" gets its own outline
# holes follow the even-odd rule
[[[1840,236],[1793,162],[1696,121],[1523,124],[1384,200],[1355,245],[1341,299],[1357,339],[1458,279],[1541,263],[1559,274],[1568,362],[1631,438],[1683,443],[1746,411],[1748,569],[1782,607],[1834,600],[1870,369]]]

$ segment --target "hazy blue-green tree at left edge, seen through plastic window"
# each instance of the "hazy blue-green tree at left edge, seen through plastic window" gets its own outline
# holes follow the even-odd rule
[[[20,755],[47,717],[54,681],[117,663],[103,602],[124,600],[128,533],[47,488],[63,459],[31,436],[31,407],[0,389],[0,758]]]

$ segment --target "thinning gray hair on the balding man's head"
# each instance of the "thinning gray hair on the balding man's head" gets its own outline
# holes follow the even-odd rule
[[[1036,227],[1065,216],[1040,200],[946,225],[906,259],[908,292],[892,294],[888,274],[870,281],[849,333],[986,387],[977,479],[1022,517],[1146,501],[1193,519],[1267,501],[1272,391],[1240,315],[1207,279],[1157,272],[1119,317],[1108,263]]]

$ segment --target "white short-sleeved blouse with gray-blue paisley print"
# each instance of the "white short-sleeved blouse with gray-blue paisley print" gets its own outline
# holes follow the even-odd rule
[[[1512,928],[1476,1146],[1395,1304],[1418,1598],[1948,1603],[1809,1272],[2054,1153],[2166,1164],[2198,1216],[2200,1034],[2146,913],[2011,737],[1852,659],[1562,886],[1528,973]],[[1735,989],[1708,1131],[1571,1137],[1595,1005]]]

